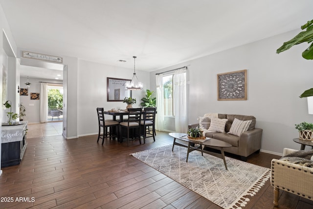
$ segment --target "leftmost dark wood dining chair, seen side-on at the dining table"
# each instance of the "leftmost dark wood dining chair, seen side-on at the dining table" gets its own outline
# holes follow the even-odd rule
[[[98,134],[98,140],[102,139],[102,145],[104,143],[105,138],[114,138],[116,137],[118,139],[118,124],[119,122],[114,120],[105,120],[104,114],[103,114],[103,108],[98,107],[97,108],[97,115],[98,115],[98,124],[99,124],[99,134]],[[101,134],[101,127],[103,128],[103,134]],[[116,134],[113,134],[113,127],[116,128]],[[109,132],[108,132],[108,129]]]

